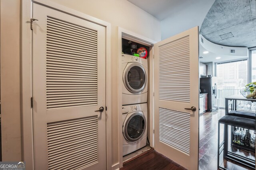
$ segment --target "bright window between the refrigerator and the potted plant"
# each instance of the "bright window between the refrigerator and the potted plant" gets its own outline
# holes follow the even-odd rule
[[[240,94],[240,90],[248,84],[247,63],[247,60],[240,60],[216,64],[220,108],[225,107],[226,97]]]

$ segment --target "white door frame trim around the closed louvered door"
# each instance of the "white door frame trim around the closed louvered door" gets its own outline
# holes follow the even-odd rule
[[[22,0],[21,2],[21,147],[22,161],[26,161],[27,169],[34,169],[33,114],[30,103],[32,97],[32,3],[40,4],[72,16],[91,21],[106,28],[106,169],[112,169],[112,139],[111,139],[111,53],[110,53],[110,23],[88,16],[71,8],[51,2],[50,0]],[[29,123],[28,123],[29,122]]]

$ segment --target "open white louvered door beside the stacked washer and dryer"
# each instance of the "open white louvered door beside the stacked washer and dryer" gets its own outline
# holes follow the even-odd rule
[[[198,58],[198,27],[154,45],[154,148],[190,170],[198,169]]]

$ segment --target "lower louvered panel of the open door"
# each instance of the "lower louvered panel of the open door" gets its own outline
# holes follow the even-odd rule
[[[190,154],[190,114],[160,107],[159,140]]]

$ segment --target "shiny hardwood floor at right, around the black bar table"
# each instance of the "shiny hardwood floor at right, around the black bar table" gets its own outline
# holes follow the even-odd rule
[[[199,118],[199,170],[217,169],[218,119],[224,115],[225,110],[218,109],[213,112],[203,113]],[[223,140],[223,126],[220,127],[220,140]],[[240,152],[244,156],[255,158],[254,153],[242,152],[235,147],[230,147],[229,149],[236,150],[236,152]],[[222,166],[229,170],[249,169],[227,161],[224,161]]]

